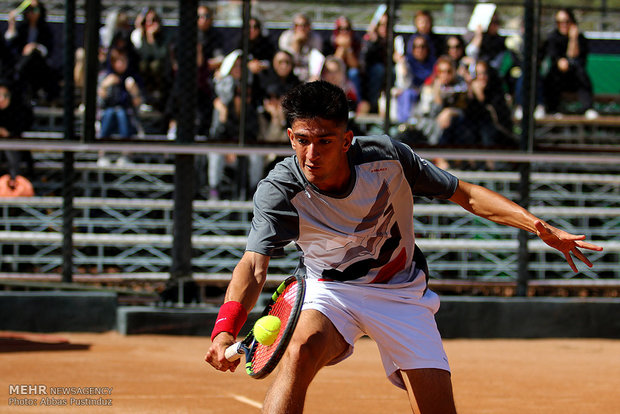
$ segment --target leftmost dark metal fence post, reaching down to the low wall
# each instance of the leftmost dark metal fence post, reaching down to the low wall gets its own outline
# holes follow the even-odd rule
[[[63,78],[64,78],[64,133],[65,140],[75,140],[74,94],[75,82],[73,67],[75,66],[75,0],[65,2],[65,27],[63,50]],[[62,169],[62,281],[73,281],[73,196],[75,182],[74,154],[71,151],[63,153]]]

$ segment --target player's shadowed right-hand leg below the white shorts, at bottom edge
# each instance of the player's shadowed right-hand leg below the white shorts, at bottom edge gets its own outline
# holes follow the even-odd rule
[[[421,414],[456,413],[450,372],[423,368],[401,371],[411,411]]]

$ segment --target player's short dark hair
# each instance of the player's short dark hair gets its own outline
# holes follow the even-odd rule
[[[322,80],[304,83],[288,91],[282,98],[282,108],[289,126],[297,119],[321,118],[343,125],[349,121],[344,91]]]

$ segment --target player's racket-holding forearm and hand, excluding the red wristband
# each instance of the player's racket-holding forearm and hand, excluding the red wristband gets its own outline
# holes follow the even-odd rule
[[[263,289],[268,266],[269,256],[246,251],[233,271],[224,303],[231,301],[240,303],[245,311],[249,312]],[[226,348],[234,342],[235,337],[230,332],[220,332],[213,338],[205,361],[220,371],[234,371],[239,365],[239,360],[230,362],[224,356]]]

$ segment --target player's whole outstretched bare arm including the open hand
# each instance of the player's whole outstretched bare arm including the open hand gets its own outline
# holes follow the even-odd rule
[[[516,227],[536,234],[546,244],[562,252],[574,272],[578,270],[570,255],[571,253],[587,266],[592,267],[590,260],[579,249],[603,250],[600,246],[584,241],[585,235],[570,234],[553,227],[506,197],[466,181],[459,181],[459,185],[450,201],[477,216],[484,217],[495,223]]]

